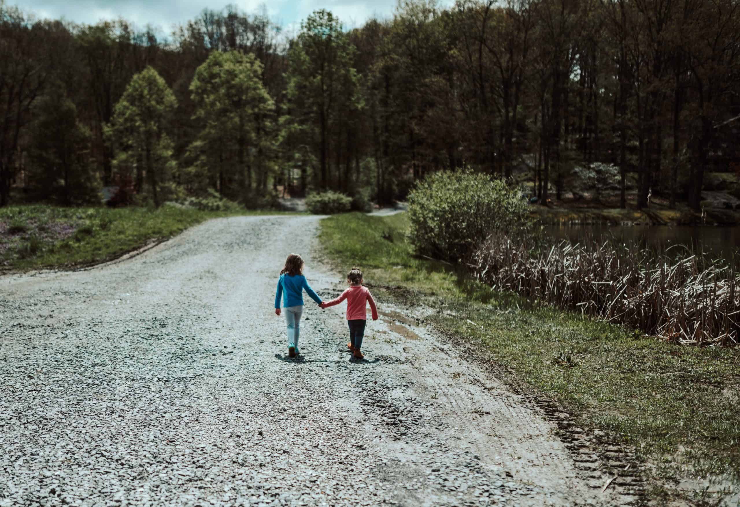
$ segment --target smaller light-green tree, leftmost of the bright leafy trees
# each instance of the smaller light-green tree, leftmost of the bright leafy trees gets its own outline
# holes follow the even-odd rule
[[[172,143],[167,136],[175,112],[175,95],[164,79],[147,67],[135,74],[115,104],[107,139],[115,152],[115,166],[126,171],[143,164],[154,205],[159,207],[159,186],[172,170]]]

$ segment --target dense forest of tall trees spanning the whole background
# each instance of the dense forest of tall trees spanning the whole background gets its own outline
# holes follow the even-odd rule
[[[110,205],[332,190],[362,208],[466,168],[540,203],[588,171],[622,208],[699,210],[707,172],[739,171],[739,118],[738,0],[400,0],[295,33],[266,7],[166,33],[0,4],[0,206],[113,187]]]

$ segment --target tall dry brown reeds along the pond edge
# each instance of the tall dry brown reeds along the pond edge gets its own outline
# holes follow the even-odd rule
[[[539,254],[491,236],[468,265],[477,279],[533,301],[626,324],[667,341],[734,345],[740,333],[733,263],[679,258],[645,248],[563,241]]]

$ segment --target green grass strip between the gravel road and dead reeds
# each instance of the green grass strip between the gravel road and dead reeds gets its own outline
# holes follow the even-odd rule
[[[337,270],[359,265],[370,285],[391,293],[405,287],[446,310],[431,317],[434,325],[484,344],[495,361],[571,409],[580,423],[635,446],[671,473],[690,466],[697,474],[740,479],[740,347],[667,344],[491,291],[464,270],[415,258],[405,214],[344,214],[321,225],[320,240]],[[570,364],[562,361],[567,356]]]

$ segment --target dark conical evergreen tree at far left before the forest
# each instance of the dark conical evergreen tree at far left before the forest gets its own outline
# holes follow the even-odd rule
[[[57,84],[39,104],[31,131],[30,183],[38,197],[65,205],[100,203],[100,180],[90,164],[90,130]]]

